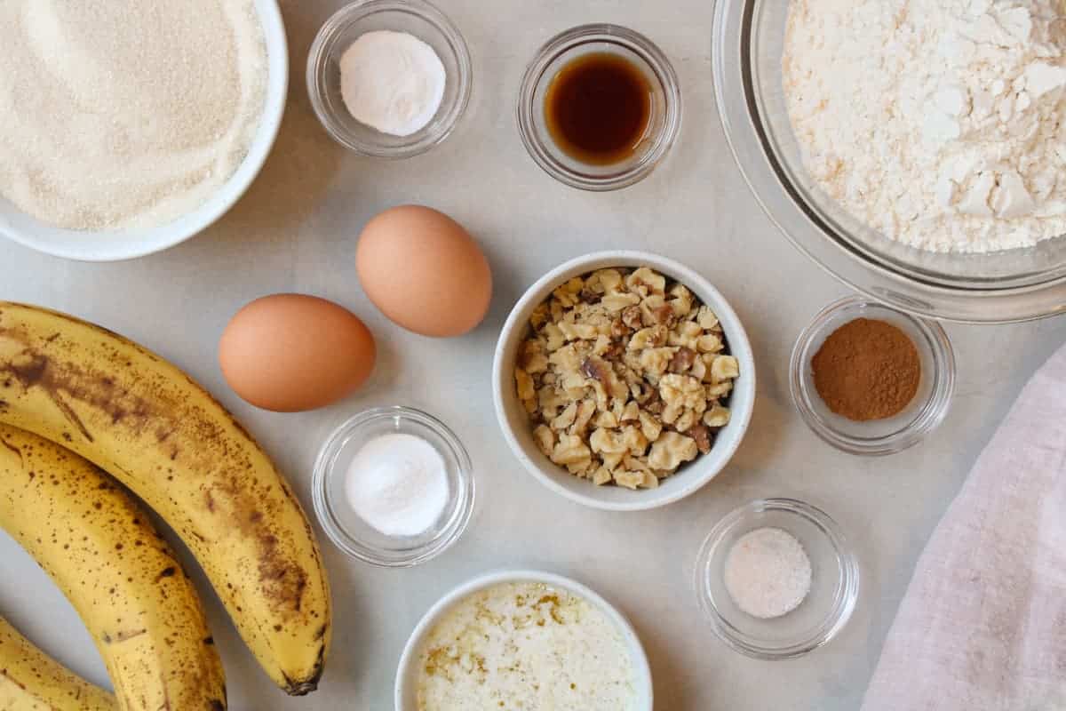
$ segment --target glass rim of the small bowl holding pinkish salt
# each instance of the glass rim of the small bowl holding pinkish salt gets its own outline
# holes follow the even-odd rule
[[[838,591],[830,614],[819,625],[810,637],[781,647],[760,645],[745,639],[725,615],[714,605],[713,596],[708,585],[708,573],[711,561],[722,546],[726,535],[742,526],[750,516],[768,511],[784,512],[806,519],[818,528],[829,542],[837,556],[837,564],[843,579]],[[753,659],[764,661],[781,661],[796,659],[825,646],[842,630],[855,612],[858,602],[861,573],[858,561],[851,550],[840,524],[831,516],[812,504],[787,497],[756,499],[738,506],[726,514],[707,534],[699,553],[696,556],[694,584],[704,616],[711,623],[714,634],[733,651]]]

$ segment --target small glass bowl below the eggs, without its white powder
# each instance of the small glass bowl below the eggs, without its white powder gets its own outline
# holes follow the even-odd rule
[[[402,433],[430,442],[448,468],[448,504],[437,522],[417,536],[388,536],[359,518],[348,504],[344,476],[359,449],[375,437]],[[378,407],[349,419],[319,452],[311,482],[314,513],[329,539],[366,563],[406,568],[425,563],[458,540],[473,512],[470,456],[442,422],[409,407]]]

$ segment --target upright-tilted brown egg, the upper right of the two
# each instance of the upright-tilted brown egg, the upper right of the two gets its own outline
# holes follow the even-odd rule
[[[448,215],[417,205],[367,223],[355,255],[370,301],[423,336],[461,336],[485,318],[492,297],[488,260]]]

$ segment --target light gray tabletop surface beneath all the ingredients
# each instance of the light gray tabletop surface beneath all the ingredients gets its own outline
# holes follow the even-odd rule
[[[127,263],[79,264],[0,242],[0,297],[68,310],[185,368],[233,409],[309,505],[310,469],[326,434],[365,407],[404,403],[446,420],[472,455],[480,501],[467,535],[414,570],[381,570],[325,545],[336,604],[321,689],[288,699],[237,639],[203,576],[196,581],[229,678],[233,709],[390,709],[403,643],[446,591],[487,569],[522,565],[577,578],[618,604],[648,649],[658,711],[854,711],[922,546],[1025,378],[1066,340],[1066,320],[949,326],[958,391],[924,445],[883,459],[831,450],[789,402],[787,362],[800,329],[845,289],[790,247],[759,212],[728,153],[712,102],[708,0],[569,2],[440,0],[474,60],[470,111],[445,145],[402,163],[362,160],[333,145],[310,113],[303,63],[318,26],[340,3],[282,0],[293,82],[278,145],[251,192],[219,225],[171,252]],[[671,56],[684,126],[666,162],[615,194],[566,189],[519,143],[513,103],[526,62],[549,35],[586,21],[648,34]],[[407,201],[442,209],[492,263],[492,310],[475,333],[433,341],[387,323],[355,277],[355,239],[378,210]],[[692,498],[643,514],[581,508],[513,462],[492,416],[497,329],[522,289],[566,258],[608,247],[661,252],[699,270],[745,321],[759,366],[752,430],[731,466]],[[262,413],[222,381],[215,345],[247,301],[279,291],[333,298],[376,335],[381,361],[356,397],[303,415]],[[796,496],[822,505],[850,535],[863,585],[852,624],[830,646],[787,663],[741,658],[699,618],[692,563],[710,526],[740,503]],[[62,595],[0,534],[0,613],[62,661],[107,681]]]

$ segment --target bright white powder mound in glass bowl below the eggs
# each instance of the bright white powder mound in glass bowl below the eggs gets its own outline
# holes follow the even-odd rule
[[[421,437],[382,435],[362,446],[344,480],[356,515],[389,536],[427,531],[448,505],[448,467]]]

